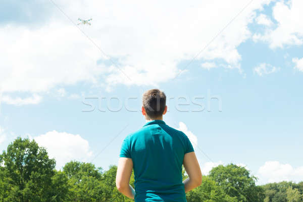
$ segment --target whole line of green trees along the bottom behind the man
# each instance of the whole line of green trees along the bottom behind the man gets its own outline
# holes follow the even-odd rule
[[[45,148],[17,138],[0,155],[0,202],[77,201],[127,202],[116,188],[117,167],[103,171],[91,163],[69,162],[57,171]],[[183,179],[187,176],[184,174]],[[212,169],[202,184],[186,193],[188,202],[301,202],[303,182],[256,185],[244,167],[230,164]],[[130,184],[134,186],[132,174]]]

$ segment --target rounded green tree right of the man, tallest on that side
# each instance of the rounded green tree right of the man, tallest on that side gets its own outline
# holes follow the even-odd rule
[[[229,164],[218,166],[210,171],[209,176],[226,194],[236,197],[243,202],[263,202],[264,189],[256,186],[257,178],[250,174],[244,167]]]

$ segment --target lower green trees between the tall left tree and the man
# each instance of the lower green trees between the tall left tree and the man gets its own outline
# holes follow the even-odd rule
[[[72,161],[64,166],[63,171],[68,178],[67,201],[132,201],[116,188],[117,166],[111,166],[108,171],[102,173],[101,168],[95,168],[91,163]],[[132,175],[130,183],[133,182]]]

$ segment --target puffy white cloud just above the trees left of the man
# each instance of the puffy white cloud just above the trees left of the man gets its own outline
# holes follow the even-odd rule
[[[88,161],[92,156],[88,141],[80,135],[54,130],[34,137],[34,140],[47,149],[50,158],[56,159],[57,169],[69,161]]]

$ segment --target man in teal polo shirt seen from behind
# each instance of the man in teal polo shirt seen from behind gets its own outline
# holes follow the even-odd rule
[[[116,186],[135,202],[186,202],[185,192],[201,184],[202,174],[192,144],[163,121],[166,95],[159,89],[143,94],[146,124],[123,141]],[[182,182],[182,164],[189,178]],[[135,190],[129,185],[132,169]]]

